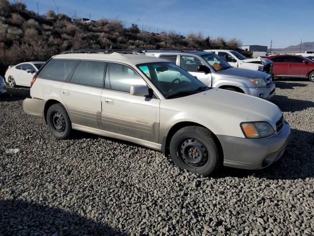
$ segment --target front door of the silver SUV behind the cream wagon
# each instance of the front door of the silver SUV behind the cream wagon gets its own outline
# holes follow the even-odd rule
[[[201,59],[191,55],[180,55],[180,67],[188,73],[202,81],[207,86],[211,86],[211,73],[198,71],[199,65],[206,65]]]

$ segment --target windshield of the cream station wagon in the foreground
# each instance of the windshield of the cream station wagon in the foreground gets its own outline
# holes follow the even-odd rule
[[[167,99],[188,96],[209,89],[194,76],[171,62],[145,63],[137,67]]]

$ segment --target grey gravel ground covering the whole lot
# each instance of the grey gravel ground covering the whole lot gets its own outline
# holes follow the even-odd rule
[[[291,125],[262,171],[199,177],[162,153],[96,135],[57,141],[27,116],[25,88],[0,96],[0,235],[314,235],[314,83],[277,81]],[[7,154],[8,148],[20,148]]]

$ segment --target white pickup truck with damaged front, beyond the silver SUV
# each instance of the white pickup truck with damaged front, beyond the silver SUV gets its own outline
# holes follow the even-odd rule
[[[271,77],[273,78],[273,62],[269,59],[265,58],[247,59],[242,54],[234,50],[212,49],[204,51],[212,52],[219,55],[233,67],[263,71],[265,73],[270,74]]]

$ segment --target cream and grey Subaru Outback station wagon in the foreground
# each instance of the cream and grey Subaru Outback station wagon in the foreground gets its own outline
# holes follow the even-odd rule
[[[75,129],[133,142],[204,176],[221,165],[261,169],[282,156],[290,126],[276,105],[133,53],[52,57],[34,76],[24,111],[44,118],[57,139]]]

